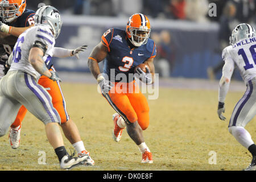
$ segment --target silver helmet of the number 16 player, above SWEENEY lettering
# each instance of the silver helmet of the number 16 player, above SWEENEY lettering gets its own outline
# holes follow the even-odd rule
[[[232,35],[229,37],[229,43],[233,46],[234,43],[246,39],[252,38],[256,35],[255,28],[247,23],[238,24],[232,31]]]

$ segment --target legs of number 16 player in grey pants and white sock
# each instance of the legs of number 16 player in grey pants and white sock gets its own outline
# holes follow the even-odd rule
[[[253,79],[247,84],[247,90],[233,110],[229,122],[229,132],[247,150],[251,152],[253,160],[246,170],[256,170],[256,145],[251,135],[244,128],[256,114],[256,80]]]

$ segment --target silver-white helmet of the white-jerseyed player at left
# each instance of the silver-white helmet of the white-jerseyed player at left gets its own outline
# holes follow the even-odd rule
[[[60,19],[59,11],[53,6],[42,6],[35,14],[35,26],[44,24],[48,26],[55,39],[60,35],[62,21]]]

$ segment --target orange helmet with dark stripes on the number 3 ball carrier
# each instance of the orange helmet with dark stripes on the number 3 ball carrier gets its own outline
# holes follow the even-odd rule
[[[150,36],[150,21],[146,15],[133,14],[126,25],[126,35],[130,42],[139,47],[146,44]]]

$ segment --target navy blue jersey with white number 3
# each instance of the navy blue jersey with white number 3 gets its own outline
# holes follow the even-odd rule
[[[101,37],[101,42],[108,47],[104,73],[112,82],[133,81],[134,68],[156,56],[156,46],[153,40],[148,39],[146,44],[130,49],[126,32],[119,28],[111,28],[106,31]],[[118,73],[122,74],[118,75]],[[132,74],[129,75],[129,73]]]

